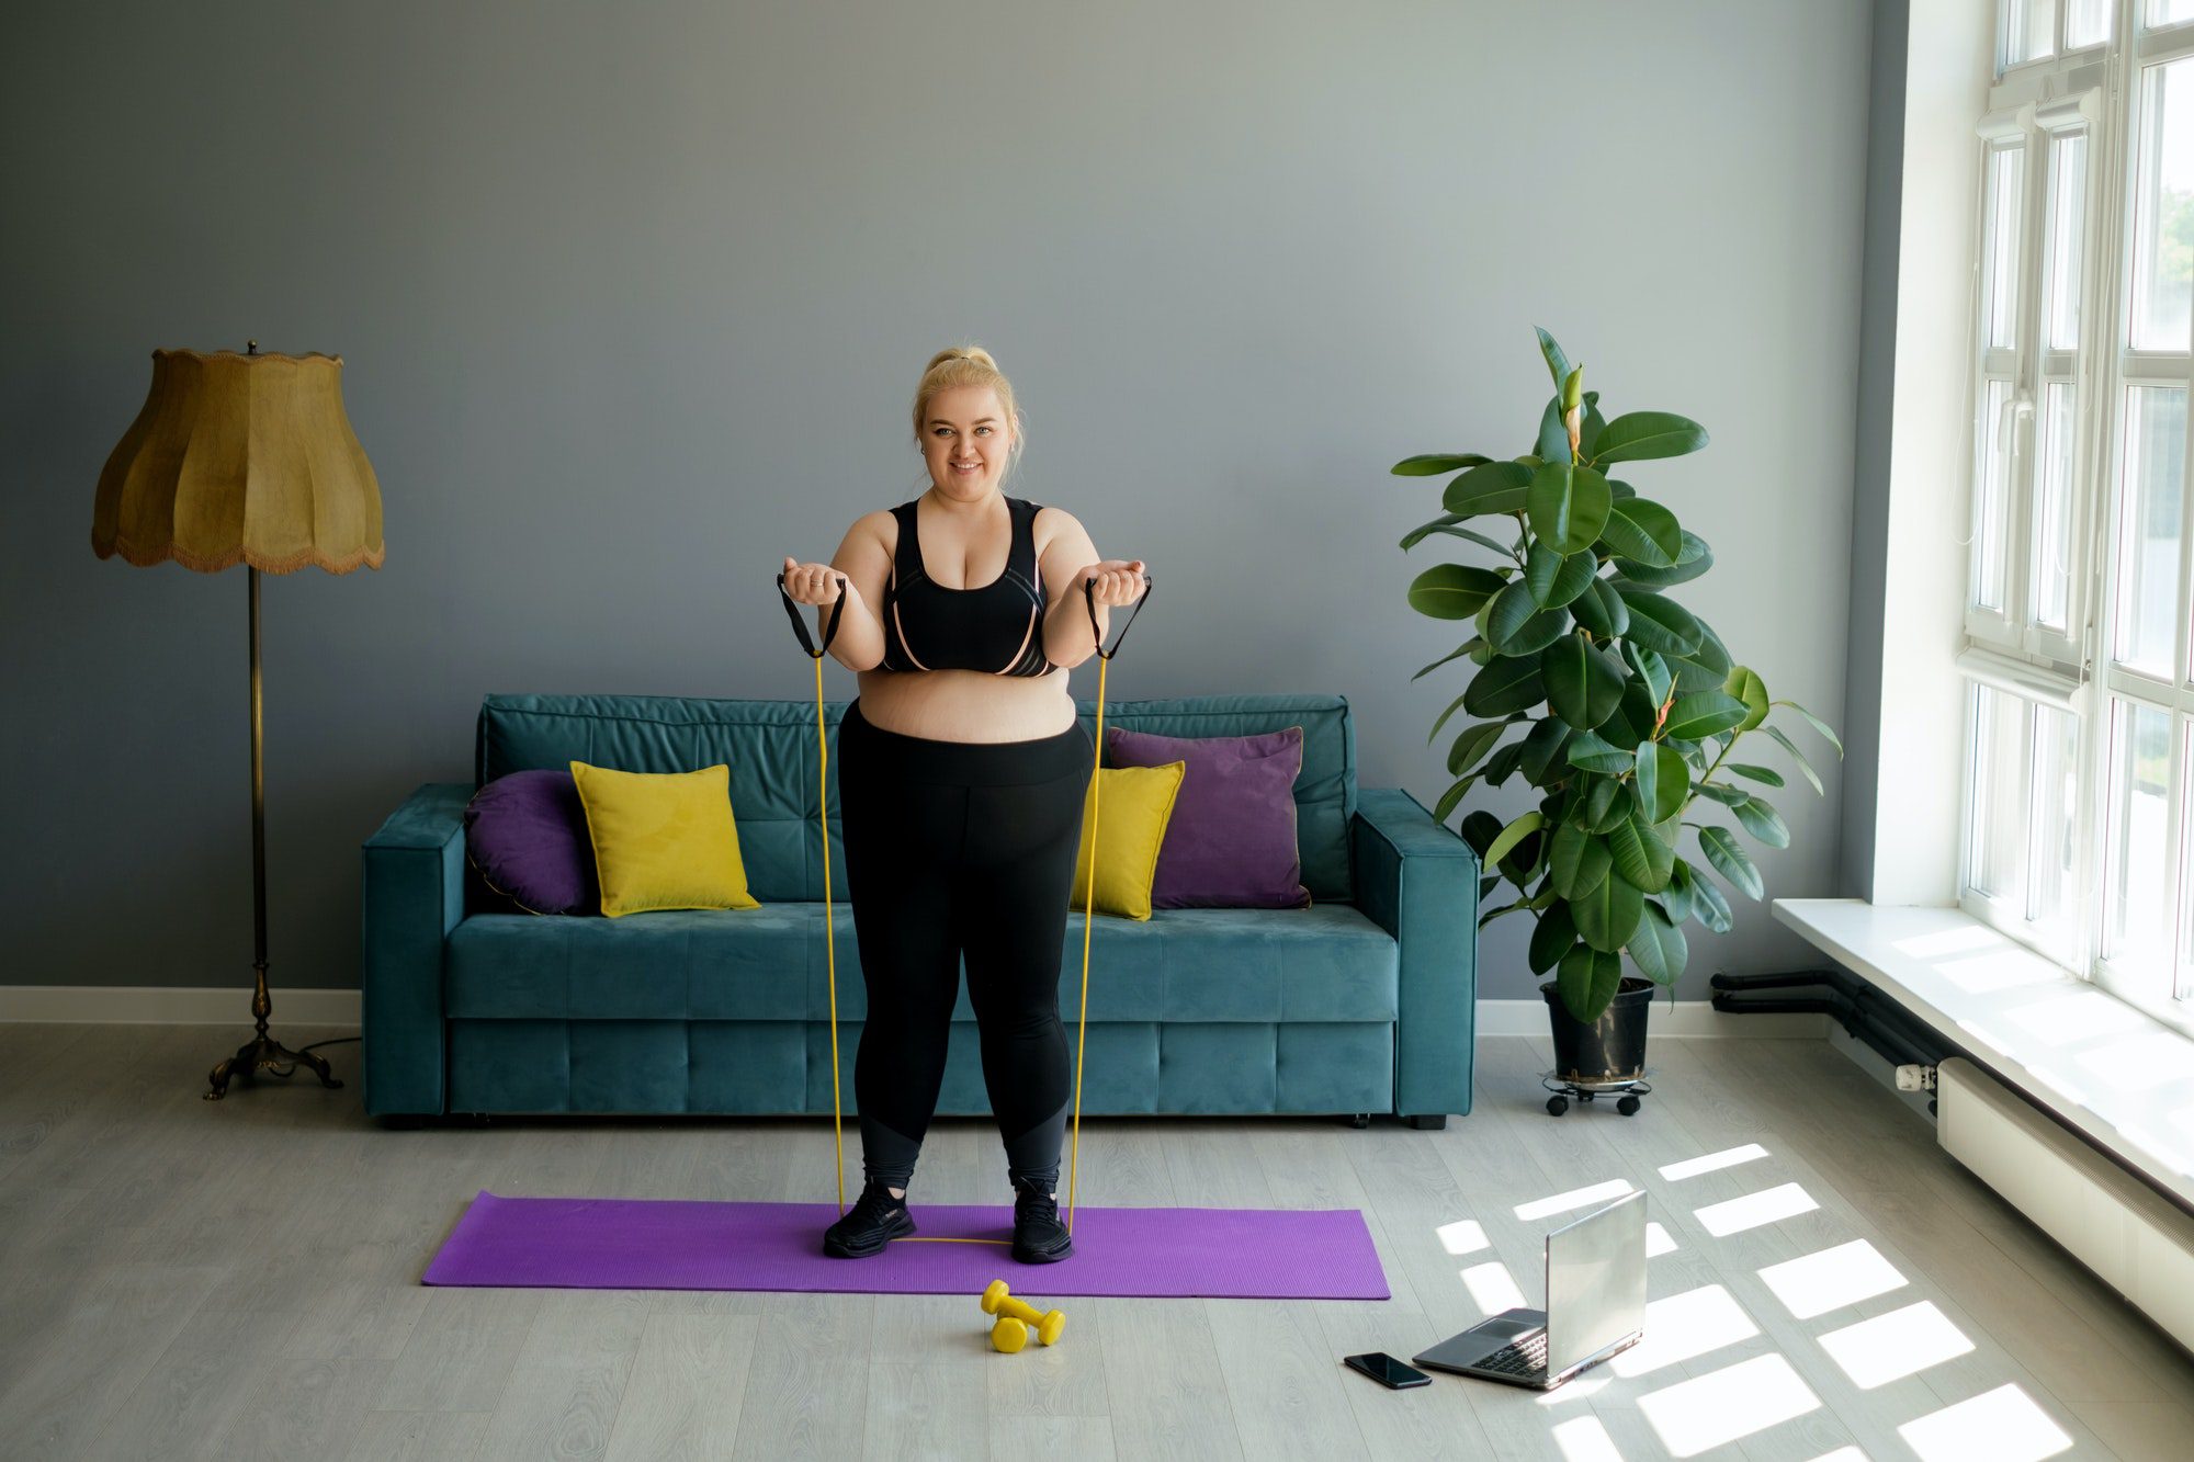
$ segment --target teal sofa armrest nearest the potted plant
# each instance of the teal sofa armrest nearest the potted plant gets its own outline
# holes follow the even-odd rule
[[[1393,1111],[1470,1111],[1479,994],[1479,856],[1402,788],[1349,819],[1356,907],[1402,946]]]

